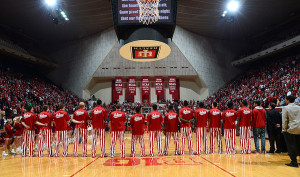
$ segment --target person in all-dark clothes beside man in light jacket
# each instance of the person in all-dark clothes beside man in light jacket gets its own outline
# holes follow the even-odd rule
[[[276,153],[281,153],[280,134],[282,118],[281,114],[275,109],[275,106],[274,103],[270,103],[270,110],[267,112],[267,131],[270,142],[270,151],[268,151],[268,153],[274,153],[275,151],[274,140],[276,141]]]

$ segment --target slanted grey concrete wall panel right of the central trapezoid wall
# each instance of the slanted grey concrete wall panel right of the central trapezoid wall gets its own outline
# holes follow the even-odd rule
[[[179,26],[173,42],[192,64],[212,95],[239,72],[231,65],[237,46],[226,41],[202,37]]]

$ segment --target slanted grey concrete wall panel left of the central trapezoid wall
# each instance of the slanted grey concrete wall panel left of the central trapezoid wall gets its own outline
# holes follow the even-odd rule
[[[116,42],[115,31],[111,28],[67,44],[51,55],[59,66],[48,74],[49,79],[80,97],[89,95],[84,88]]]

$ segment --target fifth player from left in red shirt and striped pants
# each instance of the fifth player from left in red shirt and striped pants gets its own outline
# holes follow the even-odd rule
[[[100,157],[105,155],[105,119],[107,118],[107,112],[101,106],[95,107],[91,112],[92,126],[93,126],[93,145],[92,145],[92,157],[96,157],[97,140],[100,138]]]

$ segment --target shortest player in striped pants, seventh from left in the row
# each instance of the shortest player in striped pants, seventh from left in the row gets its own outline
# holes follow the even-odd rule
[[[131,138],[131,156],[135,157],[135,146],[137,141],[141,145],[141,156],[146,156],[145,154],[145,141],[144,141],[144,125],[145,117],[142,114],[134,114],[130,119],[130,125],[132,128],[132,138]]]

